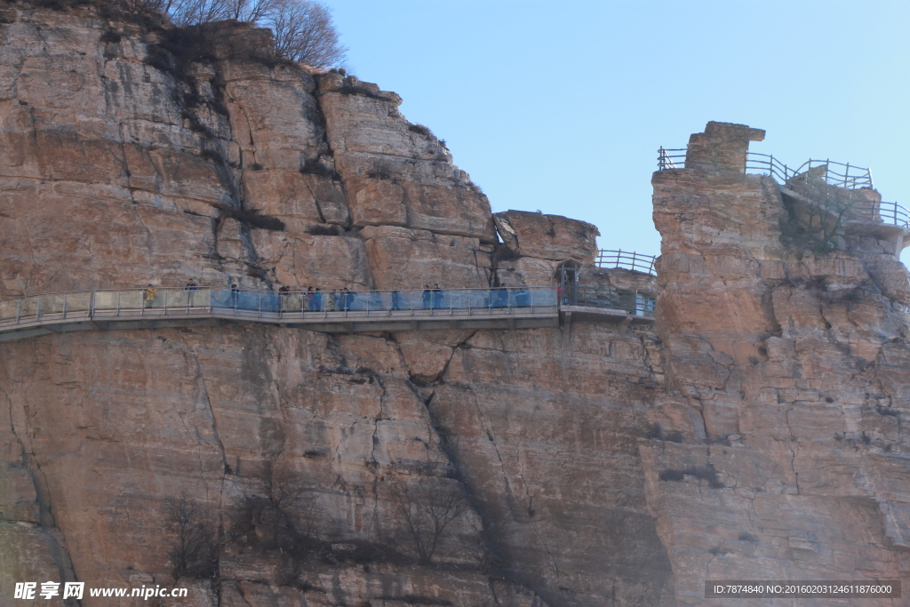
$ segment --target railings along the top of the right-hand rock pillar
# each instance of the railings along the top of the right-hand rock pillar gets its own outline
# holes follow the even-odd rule
[[[872,172],[833,160],[807,160],[800,167],[787,167],[770,154],[757,154],[718,148],[658,149],[657,168],[706,168],[718,172],[760,173],[773,177],[784,187],[798,186],[812,179],[847,190],[871,189]],[[910,228],[910,213],[896,202],[856,197],[851,202],[851,218],[864,223],[885,223]]]

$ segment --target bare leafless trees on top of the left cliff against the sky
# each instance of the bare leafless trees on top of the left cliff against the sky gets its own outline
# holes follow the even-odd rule
[[[159,3],[175,25],[236,19],[269,27],[279,55],[318,69],[340,66],[341,46],[326,6],[312,0],[139,0]]]

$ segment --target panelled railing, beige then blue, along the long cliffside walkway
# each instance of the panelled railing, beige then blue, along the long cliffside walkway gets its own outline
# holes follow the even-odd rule
[[[581,297],[578,297],[581,295]],[[560,299],[564,301],[560,301]],[[570,301],[571,298],[571,301]],[[123,319],[238,319],[271,323],[403,319],[555,317],[561,304],[620,310],[651,318],[637,293],[556,287],[274,292],[241,288],[127,288],[45,293],[0,300],[0,332]]]

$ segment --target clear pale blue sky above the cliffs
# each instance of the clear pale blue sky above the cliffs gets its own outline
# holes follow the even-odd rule
[[[871,167],[910,207],[910,3],[328,0],[349,67],[404,98],[494,211],[595,224],[659,253],[658,147],[709,120],[763,128],[791,167]],[[904,256],[910,261],[910,248]]]

